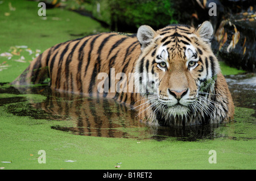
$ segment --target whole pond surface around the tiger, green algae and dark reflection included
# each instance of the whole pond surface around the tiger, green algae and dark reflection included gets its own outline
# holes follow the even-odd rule
[[[73,35],[108,30],[67,10],[51,9],[47,19],[39,17],[33,1],[2,1],[0,12],[7,12],[0,14],[0,54],[12,54],[0,56],[1,170],[256,169],[254,74],[238,74],[244,71],[220,62],[236,104],[234,121],[149,127],[130,106],[112,99],[43,85],[10,86],[37,53],[76,39]],[[46,163],[40,163],[40,150]],[[216,163],[209,162],[210,150],[216,151]]]

